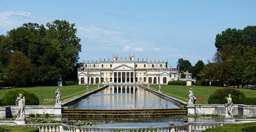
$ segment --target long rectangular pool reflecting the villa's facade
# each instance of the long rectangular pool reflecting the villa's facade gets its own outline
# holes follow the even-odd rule
[[[137,86],[112,86],[92,94],[69,108],[81,109],[155,109],[178,108],[171,101]]]

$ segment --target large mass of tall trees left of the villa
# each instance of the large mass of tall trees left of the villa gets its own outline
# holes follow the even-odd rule
[[[66,20],[26,23],[0,36],[0,87],[56,85],[76,80],[81,52],[76,28]],[[75,76],[74,76],[75,75]]]

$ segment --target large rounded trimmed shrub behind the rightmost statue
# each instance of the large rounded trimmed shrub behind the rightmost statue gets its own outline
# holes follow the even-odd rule
[[[208,104],[225,104],[227,103],[225,97],[228,97],[228,94],[231,94],[234,104],[243,104],[245,94],[239,89],[232,87],[223,87],[214,91],[208,98]]]

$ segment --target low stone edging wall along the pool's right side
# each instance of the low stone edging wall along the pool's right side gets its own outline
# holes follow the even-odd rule
[[[145,90],[147,90],[147,91],[149,91],[149,92],[151,92],[151,93],[153,93],[153,94],[156,94],[156,95],[158,95],[158,96],[161,96],[162,98],[165,98],[165,99],[167,99],[167,100],[173,102],[175,105],[179,105],[179,106],[182,106],[182,105],[183,105],[183,106],[186,106],[186,104],[187,104],[187,102],[182,101],[182,100],[180,100],[180,99],[178,99],[178,98],[174,98],[174,97],[168,96],[168,95],[163,94],[163,93],[155,92],[154,90],[149,89],[149,88],[147,88],[147,87],[144,87],[144,86],[142,86],[142,85],[138,85],[138,86],[141,87],[141,88],[143,88],[143,89],[145,89]]]

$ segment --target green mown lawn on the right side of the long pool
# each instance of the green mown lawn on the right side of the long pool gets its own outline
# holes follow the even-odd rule
[[[144,85],[147,87],[146,85]],[[221,87],[213,86],[181,86],[181,85],[161,85],[162,93],[179,98],[183,101],[188,101],[189,98],[189,89],[192,88],[195,97],[204,97],[205,104],[208,104],[208,98],[215,90],[220,89]],[[150,85],[151,89],[158,91],[158,85]],[[240,88],[239,90],[243,91],[247,98],[254,98],[256,95],[256,89],[244,89]],[[202,104],[202,100],[196,100],[197,104]]]

